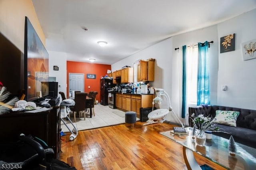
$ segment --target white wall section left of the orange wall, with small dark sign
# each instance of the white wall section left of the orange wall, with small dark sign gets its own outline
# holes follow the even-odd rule
[[[47,44],[47,39],[46,39]],[[62,91],[67,96],[67,57],[64,52],[48,51],[49,53],[49,76],[56,77],[58,82],[58,92]],[[53,70],[53,66],[59,67],[59,70]],[[60,94],[58,94],[60,96]]]

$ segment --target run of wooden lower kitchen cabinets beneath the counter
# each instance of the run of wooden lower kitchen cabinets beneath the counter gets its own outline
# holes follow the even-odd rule
[[[116,92],[116,107],[122,111],[134,111],[140,118],[140,108],[152,107],[153,94],[132,94]]]

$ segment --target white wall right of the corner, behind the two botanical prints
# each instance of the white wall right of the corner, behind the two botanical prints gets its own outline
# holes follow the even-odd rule
[[[241,49],[241,43],[256,39],[255,16],[252,10],[218,24],[218,39],[236,34],[235,51],[219,53],[218,105],[256,109],[256,59],[243,61]]]

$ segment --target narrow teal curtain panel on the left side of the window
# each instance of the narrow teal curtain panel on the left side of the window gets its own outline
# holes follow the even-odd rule
[[[186,117],[186,45],[182,46],[182,108],[181,117]]]

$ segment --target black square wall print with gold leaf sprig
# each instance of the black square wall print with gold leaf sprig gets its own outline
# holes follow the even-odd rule
[[[235,50],[235,34],[230,34],[220,38],[220,53]]]

